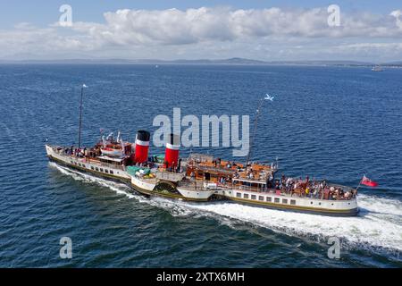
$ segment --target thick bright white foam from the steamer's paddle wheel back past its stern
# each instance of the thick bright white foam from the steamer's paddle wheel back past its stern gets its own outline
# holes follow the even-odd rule
[[[402,251],[401,202],[359,195],[359,206],[362,213],[356,217],[299,214],[232,203],[191,207],[290,235],[315,236],[318,239],[338,237],[357,248]]]

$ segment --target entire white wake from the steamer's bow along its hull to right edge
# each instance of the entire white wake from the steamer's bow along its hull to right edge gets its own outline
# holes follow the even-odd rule
[[[377,198],[360,194],[358,205],[361,212],[355,217],[335,217],[318,214],[299,214],[267,208],[243,206],[230,202],[194,204],[164,198],[147,199],[132,195],[124,184],[105,181],[80,172],[74,172],[53,164],[58,170],[80,181],[100,185],[136,198],[152,206],[163,207],[172,215],[195,215],[217,217],[222,224],[240,221],[300,237],[323,239],[338,237],[356,248],[382,248],[402,251],[402,202],[397,199]]]

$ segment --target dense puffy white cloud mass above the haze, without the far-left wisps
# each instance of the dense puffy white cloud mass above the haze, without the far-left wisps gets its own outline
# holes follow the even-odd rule
[[[236,40],[270,36],[400,37],[393,17],[369,13],[342,15],[340,27],[329,27],[326,9],[235,10],[199,8],[180,11],[119,10],[105,13],[106,24],[96,32],[117,44],[182,45],[207,40]]]

